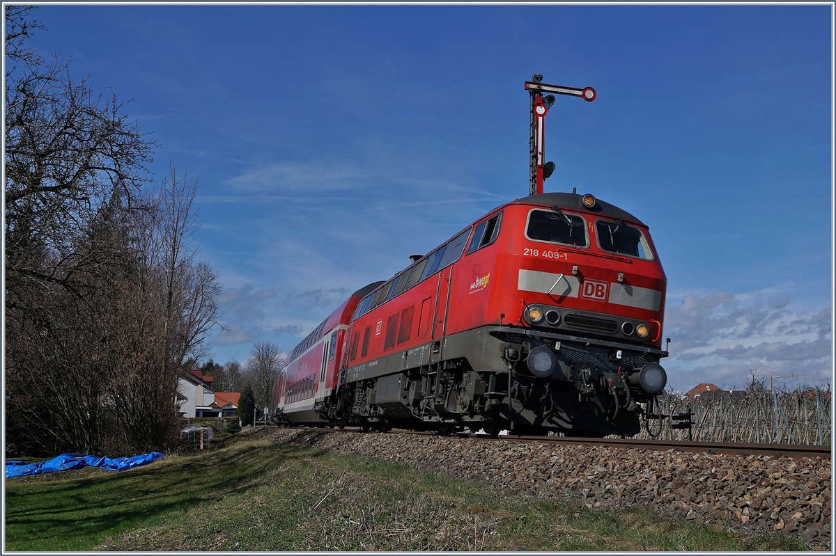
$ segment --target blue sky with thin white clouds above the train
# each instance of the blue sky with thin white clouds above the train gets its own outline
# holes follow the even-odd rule
[[[200,173],[216,361],[289,351],[341,303],[528,194],[523,83],[594,87],[546,123],[547,191],[650,225],[670,382],[828,382],[828,6],[42,6],[33,44],[133,99]]]

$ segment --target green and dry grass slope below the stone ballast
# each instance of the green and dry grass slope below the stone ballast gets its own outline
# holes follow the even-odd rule
[[[649,508],[509,496],[261,437],[143,468],[6,480],[6,550],[804,550]]]

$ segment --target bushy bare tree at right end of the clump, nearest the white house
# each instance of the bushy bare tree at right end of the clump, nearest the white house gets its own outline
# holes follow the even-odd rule
[[[197,180],[171,174],[155,207],[142,225],[135,226],[140,254],[135,286],[125,292],[130,331],[124,341],[121,372],[116,375],[112,399],[115,417],[131,447],[150,449],[176,437],[177,372],[186,356],[197,356],[212,326],[217,324],[217,276],[205,263],[196,262]]]

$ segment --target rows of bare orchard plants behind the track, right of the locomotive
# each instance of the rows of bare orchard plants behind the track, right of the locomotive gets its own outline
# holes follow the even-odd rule
[[[636,438],[829,446],[831,403],[829,388],[705,392],[693,398],[668,394],[659,398],[653,411],[665,416],[661,426],[657,419],[648,422],[650,432],[658,436],[642,428]],[[676,427],[688,414],[690,438],[687,427]]]

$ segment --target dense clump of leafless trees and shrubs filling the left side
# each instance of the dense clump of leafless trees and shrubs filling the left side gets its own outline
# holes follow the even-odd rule
[[[42,27],[27,14],[5,8],[7,449],[165,449],[176,373],[220,291],[195,259],[197,181],[171,164],[142,194],[155,143],[69,61],[28,48]]]

